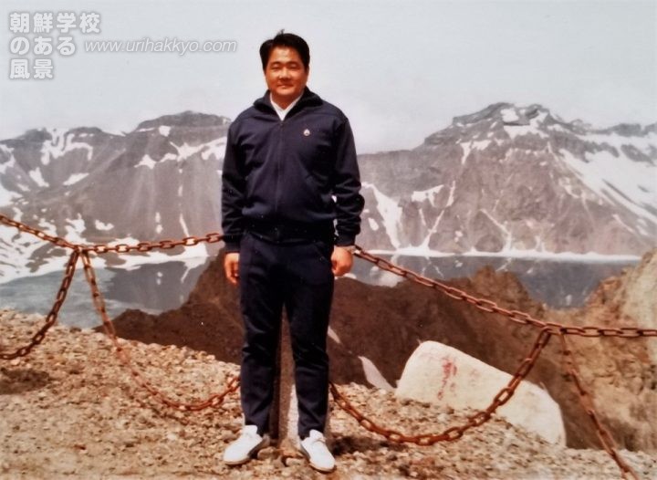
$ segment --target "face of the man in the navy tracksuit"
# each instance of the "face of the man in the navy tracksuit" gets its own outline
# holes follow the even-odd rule
[[[308,73],[296,49],[274,47],[265,68],[265,80],[276,104],[285,109],[301,95]]]

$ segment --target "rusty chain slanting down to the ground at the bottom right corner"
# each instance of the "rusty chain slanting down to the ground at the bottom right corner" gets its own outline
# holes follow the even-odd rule
[[[575,360],[575,356],[573,355],[572,350],[570,350],[568,347],[566,336],[559,335],[558,338],[561,342],[561,354],[563,355],[564,360],[564,370],[575,384],[575,389],[579,394],[579,402],[581,403],[584,412],[589,415],[589,419],[596,429],[596,433],[598,434],[598,439],[602,444],[602,448],[619,466],[623,478],[627,478],[627,475],[630,475],[634,480],[639,480],[639,475],[636,474],[631,466],[627,464],[618,453],[616,442],[614,442],[614,439],[611,436],[609,430],[607,430],[605,426],[600,423],[598,414],[595,411],[593,399],[591,398],[589,391],[584,388],[584,384],[581,381],[581,373],[579,372],[579,367],[577,361]]]

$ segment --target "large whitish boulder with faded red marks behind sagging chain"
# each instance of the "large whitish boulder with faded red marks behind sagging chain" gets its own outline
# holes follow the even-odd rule
[[[454,410],[484,410],[512,378],[481,360],[435,341],[422,343],[406,362],[395,395]],[[566,444],[558,403],[547,391],[522,381],[495,414],[537,433],[547,442]]]

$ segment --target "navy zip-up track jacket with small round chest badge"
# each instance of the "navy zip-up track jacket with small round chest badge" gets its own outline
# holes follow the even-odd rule
[[[222,173],[227,252],[239,251],[252,223],[312,230],[335,220],[336,245],[353,245],[363,204],[349,120],[308,88],[285,120],[266,91],[228,129]]]

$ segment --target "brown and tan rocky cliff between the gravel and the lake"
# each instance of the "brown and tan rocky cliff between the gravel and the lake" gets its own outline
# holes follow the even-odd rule
[[[182,308],[160,316],[136,311],[120,315],[115,319],[120,336],[187,345],[211,352],[219,360],[238,362],[242,327],[237,290],[224,280],[222,263],[223,256],[219,256],[208,267]],[[516,277],[491,268],[450,284],[476,297],[494,299],[501,307],[522,310],[547,321],[654,328],[652,288],[656,263],[657,251],[653,251],[637,268],[603,282],[587,306],[577,310],[544,308],[527,295]],[[373,287],[343,278],[336,285],[329,333],[334,381],[376,382],[372,379],[377,375],[371,374],[375,371],[394,386],[405,361],[424,340],[440,341],[514,373],[538,331],[409,282]],[[657,451],[657,339],[568,340],[601,419],[610,426],[620,446]],[[579,406],[579,397],[561,361],[558,339],[552,339],[528,378],[544,386],[560,404],[568,445],[598,447],[596,432]]]

